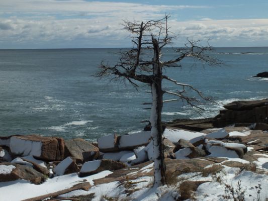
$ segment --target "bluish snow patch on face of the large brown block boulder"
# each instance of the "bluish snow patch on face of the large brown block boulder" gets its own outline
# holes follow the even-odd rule
[[[41,156],[42,142],[23,140],[17,136],[10,138],[10,150],[12,153],[22,156]]]

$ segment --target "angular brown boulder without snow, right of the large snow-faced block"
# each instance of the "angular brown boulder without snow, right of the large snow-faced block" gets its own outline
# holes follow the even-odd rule
[[[76,138],[65,141],[64,156],[71,156],[77,162],[96,159],[99,156],[99,148],[83,139]]]

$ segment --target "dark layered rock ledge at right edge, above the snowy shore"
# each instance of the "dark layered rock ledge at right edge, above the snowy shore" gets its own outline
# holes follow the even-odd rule
[[[266,127],[268,123],[268,99],[232,102],[224,108],[226,110],[220,111],[220,114],[214,118],[214,127],[241,123],[247,123],[248,126],[254,123],[263,123],[261,126],[264,129],[268,127],[268,125]]]

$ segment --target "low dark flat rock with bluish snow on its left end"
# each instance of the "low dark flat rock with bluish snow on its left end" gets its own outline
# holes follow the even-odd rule
[[[104,170],[118,170],[127,167],[126,164],[109,159],[93,160],[85,162],[80,170],[79,176],[88,176]]]

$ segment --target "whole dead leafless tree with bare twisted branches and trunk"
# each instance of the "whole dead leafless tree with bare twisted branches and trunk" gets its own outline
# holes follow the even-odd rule
[[[184,58],[192,57],[197,61],[208,65],[217,65],[220,62],[211,58],[206,53],[212,51],[212,47],[200,46],[199,41],[190,41],[183,48],[175,49],[176,57],[172,60],[161,61],[161,50],[171,43],[174,38],[170,36],[167,25],[169,16],[157,21],[130,22],[124,21],[124,28],[130,32],[133,48],[121,52],[119,62],[113,66],[101,63],[97,76],[110,76],[112,80],[128,80],[133,86],[138,87],[138,82],[146,83],[151,87],[152,107],[151,107],[151,137],[154,150],[154,185],[165,184],[165,162],[163,152],[163,137],[161,125],[162,106],[165,102],[185,100],[192,107],[199,108],[195,102],[195,97],[185,95],[187,89],[194,90],[201,98],[207,99],[193,86],[177,82],[176,80],[163,75],[163,68],[181,67]],[[181,90],[167,91],[162,89],[162,80],[168,80]],[[164,94],[170,94],[175,98],[163,100]]]

